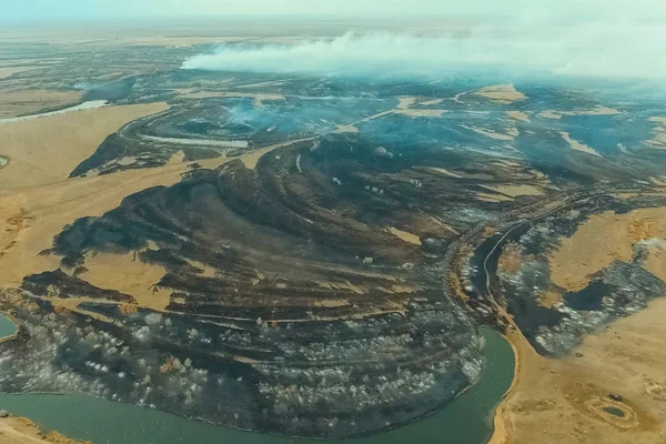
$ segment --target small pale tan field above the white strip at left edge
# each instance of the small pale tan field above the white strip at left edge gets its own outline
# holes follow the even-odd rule
[[[33,114],[80,101],[80,91],[0,91],[0,119]]]

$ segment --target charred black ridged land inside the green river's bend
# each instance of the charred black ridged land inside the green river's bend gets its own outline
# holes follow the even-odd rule
[[[195,170],[79,220],[44,254],[83,275],[88,254],[133,252],[167,270],[152,284],[170,303],[153,312],[85,302],[80,310],[105,320],[89,324],[53,313],[48,301],[59,292],[92,297],[92,286],[61,271],[30,276],[23,289],[41,297],[23,313],[28,349],[14,356],[27,366],[38,359],[31,343],[48,319],[69,325],[49,333],[70,337],[52,339],[62,344],[53,374],[101,396],[320,437],[423,416],[474,383],[483,365],[480,335],[442,276],[446,246],[470,225],[464,211],[446,213],[476,203],[482,189],[430,171],[443,155],[463,167],[455,154],[401,159],[332,135],[278,149],[256,169],[235,160]],[[413,233],[401,239],[395,228]],[[107,345],[91,357],[78,329]],[[68,389],[58,377],[40,384]]]

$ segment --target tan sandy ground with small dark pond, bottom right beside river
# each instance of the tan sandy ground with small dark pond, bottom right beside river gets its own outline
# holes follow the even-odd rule
[[[495,416],[492,444],[666,442],[666,299],[546,359],[515,331],[516,379]],[[578,356],[578,357],[577,357]],[[609,394],[618,394],[614,402]],[[619,408],[620,418],[604,412]]]

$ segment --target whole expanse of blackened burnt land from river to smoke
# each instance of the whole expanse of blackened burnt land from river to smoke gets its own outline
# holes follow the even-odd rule
[[[82,100],[169,109],[108,135],[63,182],[182,180],[40,243],[51,270],[0,293],[20,323],[0,344],[0,390],[366,435],[478,381],[480,325],[565,355],[666,292],[652,213],[582,285],[554,259],[599,214],[666,205],[660,104],[487,79],[178,70],[194,51],[85,85]]]

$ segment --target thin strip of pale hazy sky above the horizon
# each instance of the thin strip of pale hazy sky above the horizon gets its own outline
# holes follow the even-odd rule
[[[617,14],[665,17],[663,0],[1,0],[0,19],[285,16]]]

